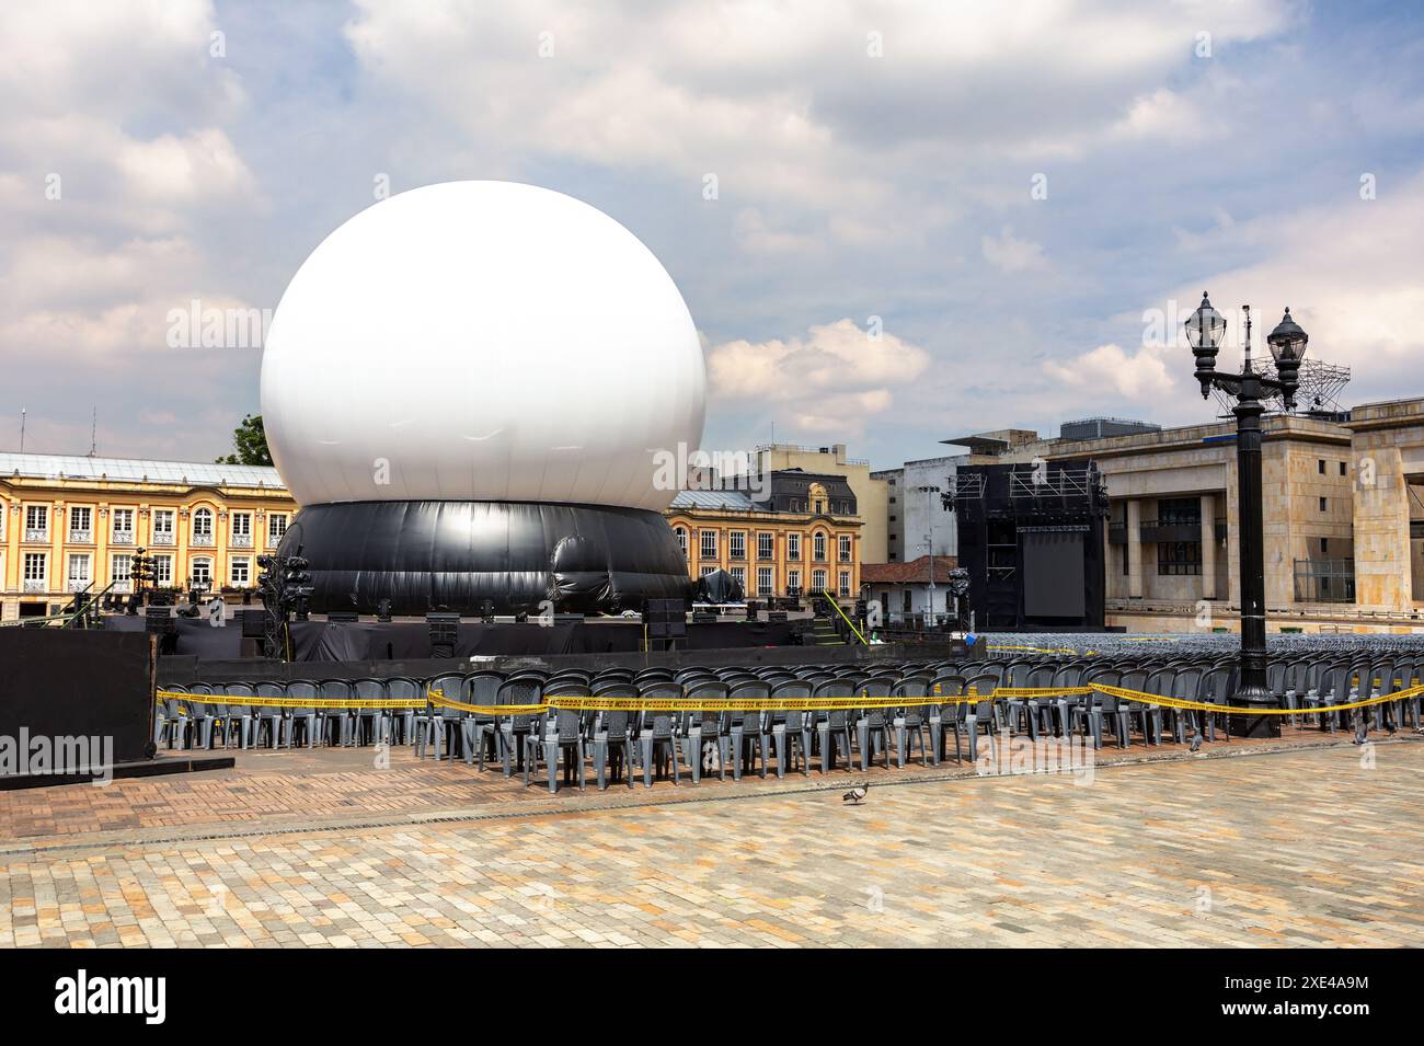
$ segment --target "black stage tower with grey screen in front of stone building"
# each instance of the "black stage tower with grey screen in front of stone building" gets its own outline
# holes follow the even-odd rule
[[[980,630],[1102,629],[1108,492],[1096,467],[961,467],[943,495]]]

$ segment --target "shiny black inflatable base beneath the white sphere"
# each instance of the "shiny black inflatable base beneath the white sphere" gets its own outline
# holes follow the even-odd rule
[[[310,608],[375,613],[540,613],[642,609],[685,599],[688,562],[658,512],[506,501],[308,505],[282,554],[310,564]]]

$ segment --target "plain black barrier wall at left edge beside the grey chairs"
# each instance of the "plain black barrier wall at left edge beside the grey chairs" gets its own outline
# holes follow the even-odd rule
[[[0,629],[0,737],[48,739],[60,763],[87,746],[56,739],[111,739],[112,763],[152,754],[155,657],[147,635],[68,629]],[[24,767],[20,767],[21,773]]]

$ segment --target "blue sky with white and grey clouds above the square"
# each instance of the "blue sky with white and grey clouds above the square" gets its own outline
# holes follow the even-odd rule
[[[709,448],[1200,421],[1203,289],[1424,394],[1417,4],[19,0],[0,98],[0,448],[97,406],[101,454],[225,451],[259,350],[172,310],[273,309],[379,185],[460,178],[648,243]]]

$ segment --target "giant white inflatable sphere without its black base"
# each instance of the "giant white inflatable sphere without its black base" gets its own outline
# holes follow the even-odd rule
[[[446,182],[360,212],[302,263],[262,354],[262,417],[302,505],[554,501],[661,511],[695,450],[702,347],[672,278],[608,215]]]

